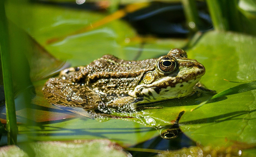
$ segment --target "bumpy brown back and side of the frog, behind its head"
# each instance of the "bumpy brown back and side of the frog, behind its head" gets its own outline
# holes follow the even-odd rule
[[[96,92],[128,95],[128,91],[139,84],[143,75],[155,68],[156,60],[128,61],[104,55],[84,68],[88,71],[85,84]]]

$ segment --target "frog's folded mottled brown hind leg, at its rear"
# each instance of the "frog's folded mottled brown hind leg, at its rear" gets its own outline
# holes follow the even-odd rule
[[[104,106],[100,96],[87,86],[61,78],[49,79],[43,88],[45,98],[52,104],[82,107],[94,110]]]

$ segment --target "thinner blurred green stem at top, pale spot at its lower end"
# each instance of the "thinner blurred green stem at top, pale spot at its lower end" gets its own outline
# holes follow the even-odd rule
[[[195,0],[182,0],[181,1],[184,7],[184,12],[187,19],[187,25],[189,28],[196,32],[200,24],[199,15],[197,11],[197,5]]]

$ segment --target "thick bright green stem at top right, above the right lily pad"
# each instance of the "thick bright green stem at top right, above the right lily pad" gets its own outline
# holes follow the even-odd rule
[[[206,0],[213,26],[217,31],[227,31],[228,21],[223,15],[224,6],[222,0]],[[223,8],[223,9],[222,9]]]

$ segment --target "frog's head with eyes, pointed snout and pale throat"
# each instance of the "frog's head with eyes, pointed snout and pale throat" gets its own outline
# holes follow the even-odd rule
[[[205,73],[204,66],[188,59],[182,49],[172,49],[155,61],[154,70],[147,71],[129,95],[143,97],[143,102],[185,97]]]

